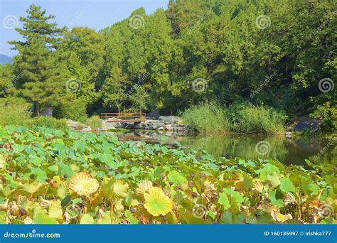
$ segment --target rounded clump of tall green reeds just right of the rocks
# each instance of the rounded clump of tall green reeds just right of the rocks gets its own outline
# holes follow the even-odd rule
[[[225,110],[213,102],[193,106],[183,112],[185,123],[200,132],[227,132],[230,124],[225,117]]]

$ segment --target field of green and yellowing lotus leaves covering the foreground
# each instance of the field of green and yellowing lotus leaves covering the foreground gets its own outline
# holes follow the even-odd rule
[[[306,162],[0,127],[0,223],[336,223],[336,166]]]

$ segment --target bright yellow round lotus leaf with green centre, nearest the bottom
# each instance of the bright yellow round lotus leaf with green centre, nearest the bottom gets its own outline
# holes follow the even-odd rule
[[[144,198],[144,207],[151,215],[166,215],[172,210],[173,202],[161,188],[150,188],[147,193],[144,193]]]

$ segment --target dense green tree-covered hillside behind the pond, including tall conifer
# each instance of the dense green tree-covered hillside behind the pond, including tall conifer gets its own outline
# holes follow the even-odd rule
[[[0,65],[0,100],[69,119],[203,102],[336,116],[336,13],[332,0],[171,0],[94,31],[31,5],[18,55]]]

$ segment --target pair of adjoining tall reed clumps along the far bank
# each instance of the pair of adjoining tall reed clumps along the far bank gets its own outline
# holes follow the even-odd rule
[[[201,132],[242,132],[257,134],[282,134],[287,116],[282,112],[250,104],[232,104],[220,107],[203,103],[186,109],[183,120]]]

